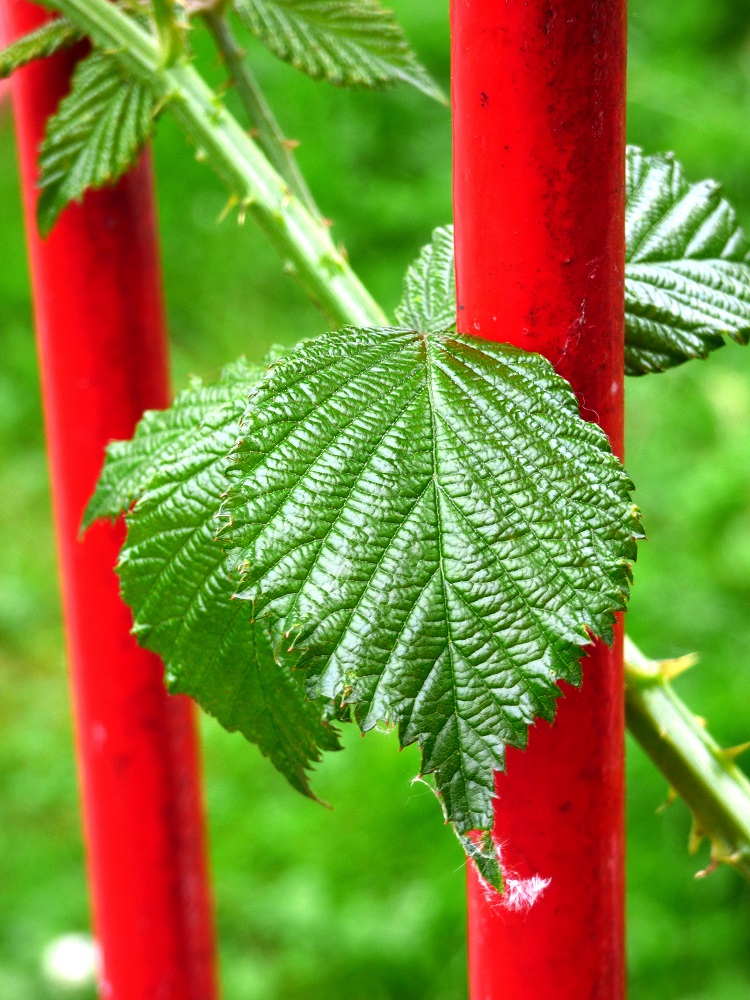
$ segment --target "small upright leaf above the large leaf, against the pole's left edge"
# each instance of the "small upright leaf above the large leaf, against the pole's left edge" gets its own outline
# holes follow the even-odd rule
[[[432,242],[406,272],[404,294],[396,322],[423,333],[439,333],[456,326],[456,262],[453,226],[440,226]]]

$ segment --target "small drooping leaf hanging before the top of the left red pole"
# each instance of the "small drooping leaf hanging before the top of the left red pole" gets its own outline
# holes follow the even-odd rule
[[[40,150],[43,235],[69,202],[113,183],[135,163],[153,130],[154,104],[152,91],[125,79],[111,56],[94,52],[78,64]]]

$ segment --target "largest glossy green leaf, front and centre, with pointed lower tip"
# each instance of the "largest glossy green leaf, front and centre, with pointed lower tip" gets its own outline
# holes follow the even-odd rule
[[[492,824],[506,745],[623,608],[639,516],[541,357],[343,330],[250,395],[226,531],[239,596],[363,730],[418,742],[459,834]]]

